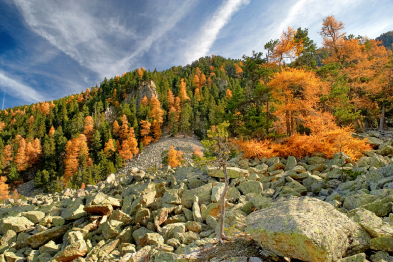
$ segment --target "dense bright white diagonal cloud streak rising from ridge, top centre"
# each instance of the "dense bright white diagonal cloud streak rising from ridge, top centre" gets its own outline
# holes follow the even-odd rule
[[[229,22],[232,15],[249,3],[250,0],[225,0],[214,13],[213,17],[206,21],[201,32],[193,40],[194,44],[188,48],[189,51],[184,55],[185,60],[190,62],[206,56],[216,41],[220,30]]]

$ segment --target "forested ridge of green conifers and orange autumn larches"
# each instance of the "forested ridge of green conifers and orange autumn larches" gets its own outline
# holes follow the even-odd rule
[[[318,48],[308,29],[288,27],[250,57],[142,67],[79,94],[1,110],[0,173],[13,184],[34,178],[46,192],[80,188],[121,168],[164,127],[203,139],[224,121],[250,158],[340,150],[356,158],[369,146],[351,132],[393,125],[392,51],[384,39],[346,34],[333,16],[320,34]],[[136,103],[130,94],[151,81],[157,98]]]

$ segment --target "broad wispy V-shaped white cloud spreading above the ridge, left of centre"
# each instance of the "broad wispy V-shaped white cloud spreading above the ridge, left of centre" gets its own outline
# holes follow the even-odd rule
[[[149,19],[157,23],[152,23],[154,26],[146,30],[149,32],[146,35],[144,30],[138,30],[141,24],[127,24],[127,17],[116,17],[113,10],[111,17],[109,12],[95,10],[99,7],[90,2],[14,0],[35,33],[96,72],[101,80],[137,67],[135,58],[142,56],[174,27],[186,15],[193,1],[156,4],[162,8],[149,10]],[[130,16],[139,15],[132,11]]]

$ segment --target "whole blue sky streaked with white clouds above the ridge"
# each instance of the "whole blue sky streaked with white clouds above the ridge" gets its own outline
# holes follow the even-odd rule
[[[165,70],[211,54],[262,51],[288,26],[318,31],[328,15],[375,38],[393,0],[0,0],[1,108],[79,93],[137,67]]]

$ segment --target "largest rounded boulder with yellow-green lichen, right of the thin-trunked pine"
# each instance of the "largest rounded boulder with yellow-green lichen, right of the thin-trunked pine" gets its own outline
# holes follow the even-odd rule
[[[351,239],[351,233],[362,230],[332,205],[308,197],[281,199],[253,212],[246,228],[263,249],[309,262],[333,262],[364,252],[368,234],[362,234],[368,236],[365,241]]]

